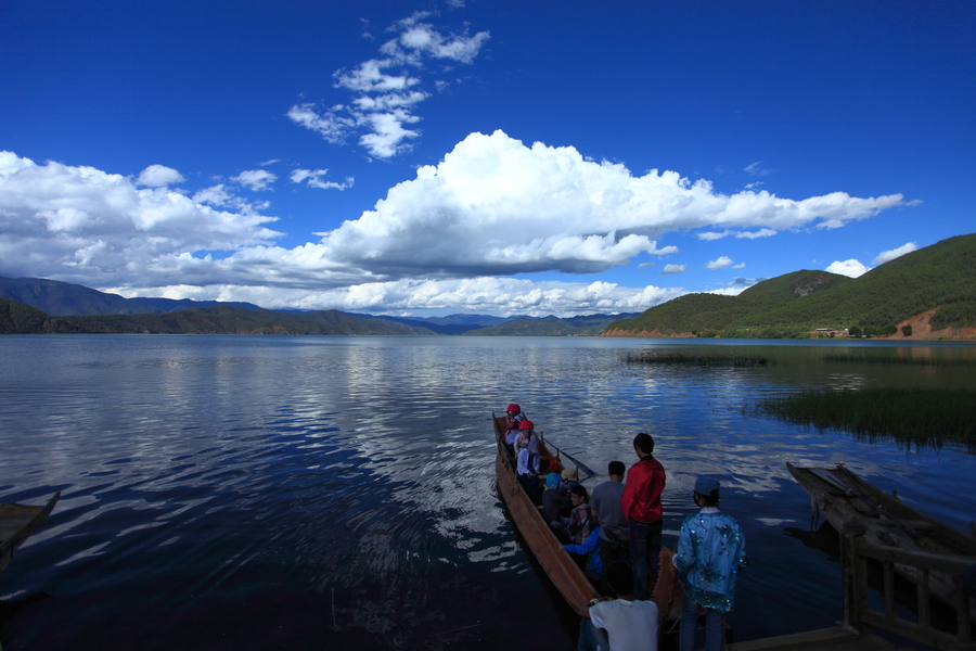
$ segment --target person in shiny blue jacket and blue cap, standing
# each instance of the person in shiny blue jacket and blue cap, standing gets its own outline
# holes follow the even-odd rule
[[[719,651],[722,623],[735,601],[735,578],[746,565],[745,537],[731,515],[719,511],[719,483],[695,480],[694,500],[702,510],[684,519],[672,557],[684,582],[679,651],[692,651],[698,608],[705,609],[705,651]]]

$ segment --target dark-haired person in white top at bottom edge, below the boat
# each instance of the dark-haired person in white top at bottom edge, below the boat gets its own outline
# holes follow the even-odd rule
[[[627,563],[614,563],[605,574],[617,598],[580,607],[577,651],[657,651],[657,604],[634,598]]]

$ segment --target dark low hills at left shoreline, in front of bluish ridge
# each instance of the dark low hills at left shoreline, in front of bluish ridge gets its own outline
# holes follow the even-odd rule
[[[434,334],[425,328],[382,319],[357,319],[335,309],[285,314],[220,305],[162,315],[51,317],[9,298],[0,298],[0,333]]]

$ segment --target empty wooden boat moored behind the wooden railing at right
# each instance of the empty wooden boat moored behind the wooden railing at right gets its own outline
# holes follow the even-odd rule
[[[865,539],[875,545],[976,562],[976,538],[913,509],[843,464],[836,468],[799,468],[787,461],[786,468],[810,494],[813,506],[837,531],[842,531],[845,523],[853,522],[863,526]],[[895,571],[915,582],[913,567],[896,563]],[[933,572],[929,591],[936,599],[954,608],[958,595],[954,580],[953,576]],[[969,605],[976,614],[973,600]]]

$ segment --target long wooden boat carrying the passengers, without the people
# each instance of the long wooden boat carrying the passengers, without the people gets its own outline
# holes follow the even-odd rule
[[[587,578],[586,574],[576,564],[576,561],[563,547],[549,524],[542,518],[542,513],[522,489],[515,472],[515,460],[510,456],[504,443],[504,417],[493,417],[495,441],[498,454],[495,458],[495,474],[498,478],[498,493],[505,507],[509,509],[512,522],[528,545],[529,550],[542,566],[552,584],[562,595],[563,599],[574,611],[588,603],[591,599],[600,597],[600,592]],[[539,436],[539,452],[541,457],[541,471],[562,472],[564,465],[562,457],[565,456],[570,463],[576,465],[580,476],[593,471],[585,464],[573,459],[558,448],[555,454],[545,445],[543,437]],[[680,615],[683,590],[677,580],[677,571],[670,562],[671,551],[662,549],[660,566],[662,576],[652,590],[651,598],[657,602],[662,618],[672,620],[676,613]],[[664,628],[664,627],[663,627]],[[662,628],[662,629],[663,629]]]

